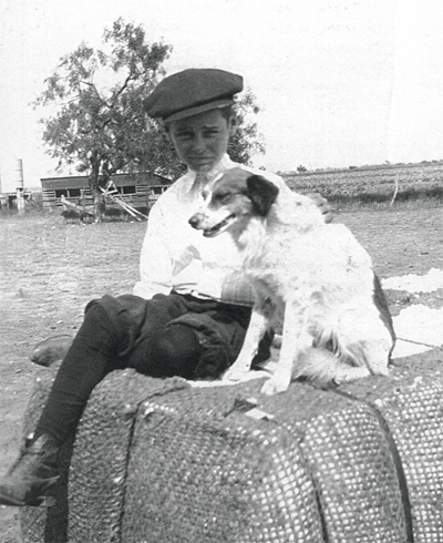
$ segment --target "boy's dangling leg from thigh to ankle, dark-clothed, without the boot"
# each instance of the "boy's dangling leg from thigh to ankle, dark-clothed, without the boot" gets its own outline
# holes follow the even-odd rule
[[[58,371],[35,428],[59,443],[72,433],[95,386],[111,371],[128,367],[128,354],[142,330],[152,330],[185,313],[179,299],[155,296],[104,296],[86,306],[79,329]]]

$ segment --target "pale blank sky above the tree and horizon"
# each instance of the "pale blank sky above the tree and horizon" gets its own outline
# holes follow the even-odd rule
[[[442,0],[0,0],[0,176],[55,176],[30,103],[63,54],[123,17],[173,45],[167,73],[240,73],[257,161],[288,172],[443,160]],[[4,188],[3,188],[4,189]]]

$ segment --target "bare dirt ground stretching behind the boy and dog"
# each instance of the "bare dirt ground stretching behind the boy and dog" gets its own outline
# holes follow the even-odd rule
[[[442,209],[367,208],[339,213],[371,254],[379,275],[443,269]],[[0,216],[0,474],[17,454],[37,367],[37,341],[74,334],[86,303],[130,293],[138,274],[145,223],[66,223],[59,214]],[[389,291],[393,314],[410,304],[443,306],[443,291]],[[17,510],[0,506],[0,543],[19,543]]]

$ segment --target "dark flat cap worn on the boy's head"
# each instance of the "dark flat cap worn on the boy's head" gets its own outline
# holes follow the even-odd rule
[[[178,121],[234,103],[243,78],[213,68],[192,68],[161,81],[145,99],[146,113],[164,122]]]

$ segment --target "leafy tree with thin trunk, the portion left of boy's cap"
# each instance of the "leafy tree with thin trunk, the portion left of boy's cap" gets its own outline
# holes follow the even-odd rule
[[[113,174],[135,171],[142,162],[161,167],[172,156],[158,126],[143,111],[143,99],[165,75],[162,64],[172,47],[148,43],[142,27],[123,19],[105,29],[103,44],[94,51],[82,43],[62,57],[34,102],[56,107],[54,116],[41,121],[43,141],[59,158],[59,170],[71,164],[87,172],[97,221],[103,211],[100,187]]]

